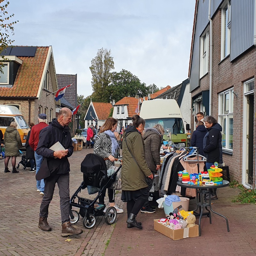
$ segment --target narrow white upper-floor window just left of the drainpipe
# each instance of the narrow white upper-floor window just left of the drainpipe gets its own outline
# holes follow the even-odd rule
[[[201,36],[200,40],[200,77],[208,72],[208,53],[209,53],[209,30]]]

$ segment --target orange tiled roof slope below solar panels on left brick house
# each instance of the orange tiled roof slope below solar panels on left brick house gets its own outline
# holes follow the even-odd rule
[[[36,97],[48,50],[48,46],[37,46],[35,57],[19,57],[23,63],[14,84],[12,87],[1,87],[0,97]]]

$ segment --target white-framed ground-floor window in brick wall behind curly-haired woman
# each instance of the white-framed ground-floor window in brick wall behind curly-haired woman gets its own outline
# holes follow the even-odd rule
[[[234,88],[219,94],[219,124],[222,127],[222,148],[233,150]]]

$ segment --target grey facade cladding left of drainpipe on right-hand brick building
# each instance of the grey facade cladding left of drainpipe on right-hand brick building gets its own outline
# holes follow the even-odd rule
[[[208,24],[208,10],[209,10],[209,0],[199,1],[197,7],[196,16],[196,29],[194,36],[194,45],[192,52],[192,61],[190,69],[190,92],[196,89],[199,84],[200,76],[200,36],[204,32]]]

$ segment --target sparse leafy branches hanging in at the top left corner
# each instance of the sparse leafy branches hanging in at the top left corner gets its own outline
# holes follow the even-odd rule
[[[14,42],[14,40],[11,40],[9,38],[9,34],[11,33],[12,35],[14,35],[13,25],[19,22],[19,20],[9,22],[9,19],[11,19],[14,16],[14,14],[8,15],[6,8],[8,7],[9,2],[6,2],[6,4],[4,4],[4,2],[4,0],[0,0],[0,4],[2,4],[0,5],[0,57],[2,58],[2,60],[0,61],[0,72],[2,74],[4,73],[4,64],[2,63],[2,61],[8,60],[2,55],[2,52],[7,48],[8,45],[11,45]]]

